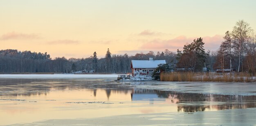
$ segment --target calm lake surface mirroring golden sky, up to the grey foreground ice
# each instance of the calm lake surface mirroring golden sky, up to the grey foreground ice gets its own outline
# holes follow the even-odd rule
[[[256,83],[117,82],[115,76],[0,75],[0,125],[225,110],[234,111],[230,117],[242,111],[242,118],[250,116],[245,122],[256,124],[247,112],[256,113]]]

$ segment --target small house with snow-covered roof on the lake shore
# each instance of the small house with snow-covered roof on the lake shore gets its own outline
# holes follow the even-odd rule
[[[132,60],[132,76],[151,75],[159,64],[166,64],[166,61],[153,60],[153,58],[149,58],[149,60]]]

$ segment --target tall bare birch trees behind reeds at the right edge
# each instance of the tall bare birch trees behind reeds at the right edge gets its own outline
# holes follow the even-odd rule
[[[254,30],[244,20],[236,22],[215,53],[216,69],[230,69],[256,75],[256,41]]]

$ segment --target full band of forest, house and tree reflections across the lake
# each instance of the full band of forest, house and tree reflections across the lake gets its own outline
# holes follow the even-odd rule
[[[131,101],[164,102],[177,105],[177,111],[196,112],[225,109],[246,109],[256,107],[256,96],[218,95],[202,93],[181,93],[173,91],[159,91],[152,89],[137,89],[132,85],[119,85],[115,82],[102,80],[40,80],[40,79],[0,79],[0,99],[17,96],[47,96],[51,91],[76,91],[87,89],[93,91],[96,98],[97,91],[105,91],[109,100],[112,95],[130,95]],[[121,100],[121,98],[117,99]]]

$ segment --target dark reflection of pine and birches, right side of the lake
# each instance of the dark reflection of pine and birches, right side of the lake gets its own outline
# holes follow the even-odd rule
[[[256,96],[181,93],[150,89],[133,89],[131,96],[135,94],[148,94],[150,96],[152,93],[157,94],[158,98],[165,98],[166,101],[171,101],[171,104],[177,104],[177,111],[183,112],[256,107]]]

